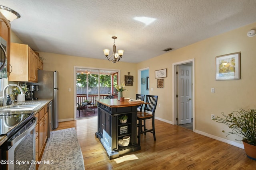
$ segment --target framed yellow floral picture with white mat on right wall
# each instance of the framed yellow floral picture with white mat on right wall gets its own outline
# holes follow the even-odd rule
[[[240,79],[240,52],[215,57],[215,80]]]

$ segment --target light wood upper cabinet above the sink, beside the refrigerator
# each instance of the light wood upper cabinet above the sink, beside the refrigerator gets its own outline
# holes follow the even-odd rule
[[[9,81],[37,82],[38,56],[26,44],[11,43]]]

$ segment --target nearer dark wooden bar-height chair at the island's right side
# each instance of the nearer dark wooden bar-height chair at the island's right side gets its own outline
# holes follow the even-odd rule
[[[146,104],[144,107],[144,111],[137,112],[137,120],[138,120],[138,145],[140,145],[140,135],[145,134],[147,132],[153,133],[154,141],[156,141],[156,133],[155,133],[155,111],[157,106],[158,96],[146,95]],[[149,113],[151,112],[151,113]],[[152,119],[152,129],[146,129],[146,120]],[[143,125],[142,125],[143,121]],[[143,129],[142,129],[143,127]]]

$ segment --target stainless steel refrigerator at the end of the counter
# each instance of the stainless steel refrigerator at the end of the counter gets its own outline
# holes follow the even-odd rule
[[[52,129],[56,129],[58,123],[58,71],[38,70],[38,91],[35,97],[40,99],[52,98],[52,115],[50,123]]]

